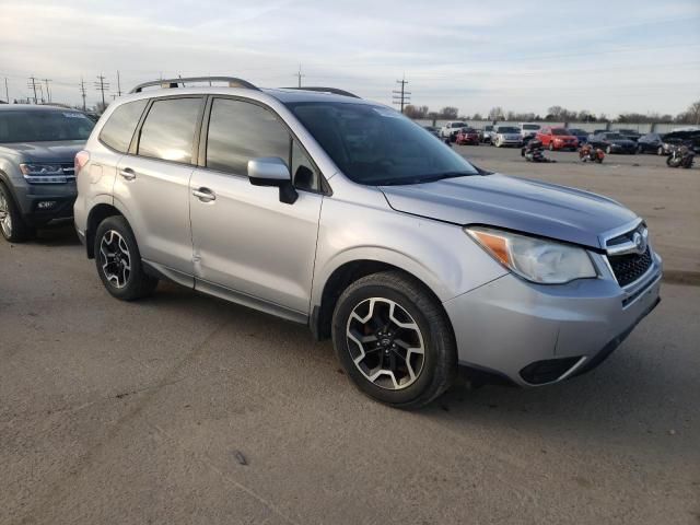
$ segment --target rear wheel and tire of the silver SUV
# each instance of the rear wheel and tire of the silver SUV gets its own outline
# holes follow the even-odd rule
[[[122,301],[147,298],[158,287],[158,279],[143,271],[136,237],[121,215],[108,217],[97,226],[95,266],[107,291]]]

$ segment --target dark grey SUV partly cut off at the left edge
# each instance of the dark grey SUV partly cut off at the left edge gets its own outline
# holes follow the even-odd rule
[[[73,158],[95,122],[47,105],[0,107],[0,232],[10,242],[73,214]]]

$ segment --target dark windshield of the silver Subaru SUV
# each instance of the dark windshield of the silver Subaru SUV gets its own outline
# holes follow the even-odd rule
[[[355,183],[418,184],[479,173],[441,140],[394,109],[342,102],[287,106]]]

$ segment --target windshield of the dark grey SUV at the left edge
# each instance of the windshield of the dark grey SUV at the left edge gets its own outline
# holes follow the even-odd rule
[[[0,110],[0,142],[88,140],[95,126],[80,112]]]

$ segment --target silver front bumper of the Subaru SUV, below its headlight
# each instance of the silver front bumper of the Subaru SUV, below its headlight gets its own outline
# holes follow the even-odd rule
[[[443,303],[460,365],[521,386],[557,383],[599,364],[660,301],[662,261],[620,288],[603,277],[562,285],[503,276]]]

